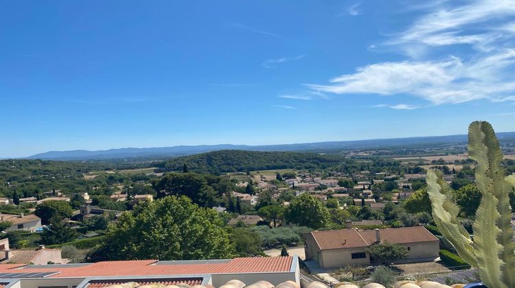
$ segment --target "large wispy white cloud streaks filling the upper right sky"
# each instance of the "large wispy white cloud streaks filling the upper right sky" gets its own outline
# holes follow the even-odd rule
[[[444,2],[419,7],[426,13],[385,43],[389,51],[402,51],[410,58],[368,64],[329,84],[309,86],[335,94],[411,95],[435,105],[515,101],[515,22],[506,23],[515,15],[515,0],[466,1],[453,7]],[[472,49],[453,49],[454,55],[442,56],[442,47],[452,45]]]

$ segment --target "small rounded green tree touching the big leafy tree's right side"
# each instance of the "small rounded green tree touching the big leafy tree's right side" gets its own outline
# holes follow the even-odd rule
[[[264,255],[260,235],[249,228],[234,228],[229,239],[231,239],[231,243],[234,243],[236,254],[239,257]]]

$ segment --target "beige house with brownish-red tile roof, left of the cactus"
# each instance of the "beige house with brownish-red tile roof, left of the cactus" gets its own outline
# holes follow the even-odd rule
[[[322,268],[370,265],[374,259],[370,259],[367,248],[384,241],[408,248],[407,259],[398,263],[434,261],[439,252],[439,240],[423,226],[312,231],[304,233],[304,239],[306,261],[315,261]]]

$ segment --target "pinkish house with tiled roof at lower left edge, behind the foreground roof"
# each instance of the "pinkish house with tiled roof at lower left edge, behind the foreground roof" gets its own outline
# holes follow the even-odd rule
[[[0,245],[1,247],[1,245]],[[3,257],[3,258],[2,258]],[[29,264],[47,265],[48,263],[62,264],[60,249],[47,249],[41,245],[38,249],[9,249],[9,245],[0,250],[0,263],[2,264]]]

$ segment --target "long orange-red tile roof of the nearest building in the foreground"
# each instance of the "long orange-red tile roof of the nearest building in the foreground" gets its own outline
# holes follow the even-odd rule
[[[284,257],[247,257],[229,261],[206,261],[205,263],[178,261],[176,263],[159,263],[155,260],[141,261],[105,261],[82,265],[80,267],[31,267],[13,269],[13,265],[0,264],[0,273],[14,272],[60,272],[50,276],[85,277],[85,276],[144,276],[144,275],[183,275],[183,274],[225,274],[225,273],[262,273],[288,272],[293,262],[292,256]]]

